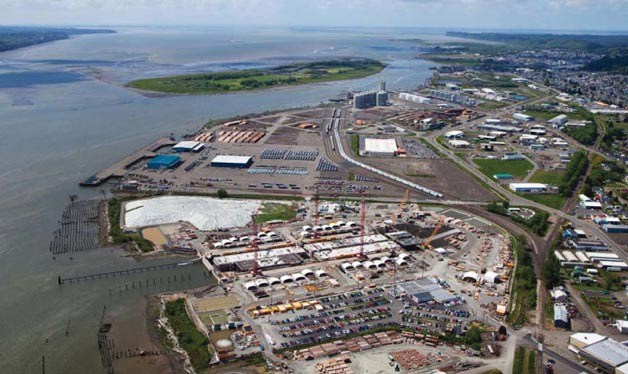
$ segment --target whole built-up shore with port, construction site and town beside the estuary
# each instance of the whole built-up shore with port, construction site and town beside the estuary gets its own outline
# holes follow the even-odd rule
[[[115,197],[73,201],[51,251],[104,215],[202,264],[212,286],[157,296],[190,373],[627,372],[625,101],[562,74],[441,67],[158,139],[82,183]]]

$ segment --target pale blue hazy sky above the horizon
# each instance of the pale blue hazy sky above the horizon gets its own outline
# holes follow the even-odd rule
[[[628,31],[628,0],[0,0],[3,25]]]

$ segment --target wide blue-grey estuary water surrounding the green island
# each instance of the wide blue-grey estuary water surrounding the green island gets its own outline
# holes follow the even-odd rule
[[[0,53],[1,373],[42,372],[42,356],[46,373],[104,372],[96,344],[104,306],[109,318],[123,319],[146,294],[207,283],[191,266],[58,286],[58,276],[138,266],[112,249],[56,259],[49,253],[68,196],[100,194],[79,188],[81,180],[157,137],[188,133],[209,119],[316,105],[380,80],[389,89],[412,89],[433,66],[416,59],[416,44],[405,41],[425,34],[420,30],[114,29]],[[123,87],[141,77],[335,56],[389,66],[354,81],[229,95],[148,98]],[[185,282],[121,291],[176,274]]]

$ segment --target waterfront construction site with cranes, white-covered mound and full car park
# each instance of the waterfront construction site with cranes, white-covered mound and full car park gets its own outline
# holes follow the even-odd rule
[[[221,227],[207,222],[221,209],[211,204],[225,200],[152,199],[194,219],[141,217],[153,214],[151,199],[129,202],[124,211],[135,229],[150,224],[159,230],[169,243],[164,250],[177,243],[178,250],[196,253],[219,280],[224,294],[185,296],[192,320],[210,337],[216,362],[266,346],[302,365],[340,352],[399,350],[397,344],[438,346],[441,352],[409,362],[400,353],[395,365],[402,368],[456,365],[470,354],[491,359],[501,343],[491,342],[491,350],[454,350],[441,347],[450,344],[441,339],[463,336],[478,322],[486,331],[503,323],[514,265],[508,236],[462,211],[409,203],[409,195],[386,204],[316,194],[293,203],[294,218],[265,222],[259,218],[269,202],[233,200],[239,208],[221,211]],[[194,208],[198,199],[210,205]]]

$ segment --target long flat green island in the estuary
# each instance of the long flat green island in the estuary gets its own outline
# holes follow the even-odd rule
[[[366,58],[303,62],[269,69],[232,70],[138,79],[127,87],[173,94],[217,94],[364,78],[386,65]]]

